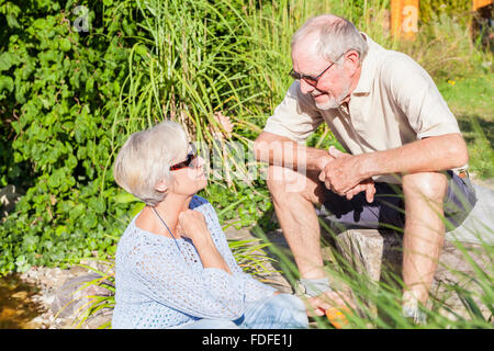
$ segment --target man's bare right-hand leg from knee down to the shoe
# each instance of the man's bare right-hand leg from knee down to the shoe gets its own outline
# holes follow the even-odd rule
[[[445,174],[413,173],[403,177],[405,233],[403,240],[404,304],[414,297],[426,304],[445,241],[442,201],[448,188]]]

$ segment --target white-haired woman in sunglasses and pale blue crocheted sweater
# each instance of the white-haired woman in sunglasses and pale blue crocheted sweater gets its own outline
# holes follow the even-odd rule
[[[134,133],[114,165],[146,203],[121,237],[113,328],[306,328],[303,303],[244,273],[212,205],[204,160],[175,122]]]

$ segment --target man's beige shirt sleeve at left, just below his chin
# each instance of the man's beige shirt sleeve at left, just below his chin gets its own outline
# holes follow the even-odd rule
[[[313,98],[304,95],[300,82],[294,81],[266,122],[263,131],[302,144],[323,122]]]

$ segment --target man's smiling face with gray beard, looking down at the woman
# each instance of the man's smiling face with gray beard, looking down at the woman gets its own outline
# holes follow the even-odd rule
[[[315,41],[308,35],[303,42],[293,47],[293,69],[305,76],[317,77],[332,61],[322,58],[315,49]],[[316,106],[321,110],[337,109],[350,92],[351,78],[346,72],[343,56],[332,65],[318,79],[315,86],[305,79],[300,80],[301,91],[314,98]]]

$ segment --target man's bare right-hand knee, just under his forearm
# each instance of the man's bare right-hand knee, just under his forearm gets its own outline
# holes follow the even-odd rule
[[[448,190],[448,179],[440,172],[420,172],[403,176],[403,192],[406,197],[422,197],[441,202]]]

